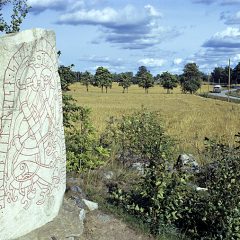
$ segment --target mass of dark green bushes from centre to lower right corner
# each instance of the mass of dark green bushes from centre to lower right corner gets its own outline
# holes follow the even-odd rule
[[[126,143],[148,164],[135,186],[128,191],[115,187],[110,201],[149,224],[155,235],[174,226],[191,239],[240,239],[240,141],[229,147],[208,140],[203,157],[210,164],[198,174],[169,170],[172,141],[155,120],[151,113],[138,113],[114,128],[116,142]],[[195,182],[206,191],[197,190]]]

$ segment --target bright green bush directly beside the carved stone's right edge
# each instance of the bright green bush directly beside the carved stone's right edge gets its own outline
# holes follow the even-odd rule
[[[109,151],[103,148],[90,120],[90,109],[77,106],[63,95],[63,122],[67,150],[67,171],[85,171],[103,165]]]

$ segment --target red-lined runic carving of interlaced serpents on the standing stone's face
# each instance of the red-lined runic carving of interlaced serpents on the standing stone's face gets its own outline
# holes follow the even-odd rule
[[[65,178],[58,79],[55,49],[44,38],[24,43],[9,61],[0,105],[0,209],[41,205]]]

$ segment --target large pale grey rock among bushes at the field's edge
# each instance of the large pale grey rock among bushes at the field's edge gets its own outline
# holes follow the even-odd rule
[[[199,165],[192,156],[192,154],[179,155],[177,163],[175,164],[174,168],[177,170],[187,171],[191,173],[199,172]]]

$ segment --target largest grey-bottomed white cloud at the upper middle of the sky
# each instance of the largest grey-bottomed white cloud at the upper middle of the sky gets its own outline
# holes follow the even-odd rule
[[[161,13],[151,5],[122,9],[81,9],[62,14],[58,24],[101,26],[102,38],[125,49],[143,49],[156,46],[164,40],[180,35],[176,28],[160,24]]]

